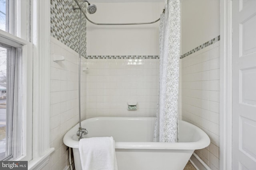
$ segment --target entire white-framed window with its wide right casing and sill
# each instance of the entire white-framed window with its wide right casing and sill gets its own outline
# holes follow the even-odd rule
[[[6,100],[1,136],[8,137],[8,143],[4,153],[0,150],[0,160],[25,160],[28,169],[42,169],[54,151],[49,135],[50,0],[0,0],[0,24],[6,97],[13,99]]]

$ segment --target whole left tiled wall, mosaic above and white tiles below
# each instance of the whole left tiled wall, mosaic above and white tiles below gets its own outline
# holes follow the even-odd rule
[[[81,0],[78,0],[80,3]],[[43,170],[68,168],[64,134],[78,123],[78,52],[80,10],[74,0],[50,0],[51,57],[63,55],[65,61],[51,61],[50,147],[55,151]],[[86,19],[82,16],[82,57],[86,56]],[[82,58],[82,63],[86,59]],[[83,67],[84,65],[82,65]],[[81,118],[86,119],[86,73],[81,72]]]

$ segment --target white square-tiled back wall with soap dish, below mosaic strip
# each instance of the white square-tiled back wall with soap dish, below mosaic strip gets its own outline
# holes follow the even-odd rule
[[[155,116],[159,59],[87,59],[87,118]],[[90,58],[90,57],[88,57]],[[116,57],[114,57],[116,58]],[[138,102],[136,111],[127,102]]]

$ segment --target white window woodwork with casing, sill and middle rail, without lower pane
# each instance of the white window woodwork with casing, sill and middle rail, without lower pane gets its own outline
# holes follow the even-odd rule
[[[20,25],[16,32],[21,38],[0,30],[2,37],[22,44],[26,56],[22,57],[24,147],[16,160],[28,160],[28,170],[38,170],[54,151],[50,148],[50,0],[18,0],[16,9]]]

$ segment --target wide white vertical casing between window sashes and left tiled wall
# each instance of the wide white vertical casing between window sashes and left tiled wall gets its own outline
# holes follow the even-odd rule
[[[28,169],[47,164],[50,148],[50,0],[32,1],[33,51],[33,160]]]

